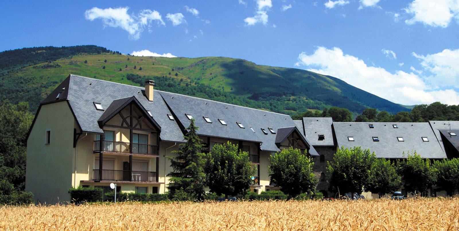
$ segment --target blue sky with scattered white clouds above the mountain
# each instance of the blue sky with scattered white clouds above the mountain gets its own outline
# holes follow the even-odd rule
[[[0,11],[0,51],[227,56],[328,74],[396,103],[459,103],[458,0],[11,1]]]

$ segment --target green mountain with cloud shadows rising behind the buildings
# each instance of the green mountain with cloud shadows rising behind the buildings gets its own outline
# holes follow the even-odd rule
[[[93,45],[0,52],[0,95],[12,102],[29,101],[36,110],[70,73],[142,86],[153,79],[158,90],[287,114],[331,106],[357,113],[366,107],[409,111],[340,79],[301,69],[227,57],[129,56]]]

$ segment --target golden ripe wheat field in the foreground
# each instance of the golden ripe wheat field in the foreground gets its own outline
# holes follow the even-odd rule
[[[459,198],[3,206],[0,230],[459,230]]]

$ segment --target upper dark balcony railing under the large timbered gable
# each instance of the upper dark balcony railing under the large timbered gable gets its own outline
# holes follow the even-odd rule
[[[131,151],[132,148],[132,151]],[[94,152],[100,152],[101,141],[94,141]],[[124,152],[146,155],[157,155],[158,146],[150,144],[126,143],[119,141],[103,141],[102,152]]]

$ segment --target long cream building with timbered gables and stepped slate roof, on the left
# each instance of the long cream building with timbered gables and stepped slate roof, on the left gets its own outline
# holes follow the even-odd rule
[[[231,141],[249,152],[251,189],[269,185],[269,156],[293,146],[319,156],[288,115],[69,75],[40,104],[27,137],[26,191],[40,203],[70,200],[68,189],[117,183],[122,192],[167,191],[167,156],[191,118],[206,150]]]

